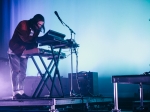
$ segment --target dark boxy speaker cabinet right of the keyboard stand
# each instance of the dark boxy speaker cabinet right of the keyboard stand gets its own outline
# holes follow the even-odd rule
[[[69,89],[71,90],[71,73],[69,77]],[[78,79],[78,80],[77,80]],[[98,73],[97,72],[80,72],[72,73],[72,89],[75,93],[83,96],[98,95]]]

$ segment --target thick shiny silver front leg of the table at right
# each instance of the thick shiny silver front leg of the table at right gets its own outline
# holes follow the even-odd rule
[[[121,110],[118,110],[118,89],[117,89],[117,83],[114,84],[114,109],[112,112],[121,112]]]

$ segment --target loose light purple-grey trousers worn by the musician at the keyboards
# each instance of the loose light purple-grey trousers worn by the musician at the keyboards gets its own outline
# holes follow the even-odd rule
[[[24,91],[24,79],[26,77],[27,61],[28,58],[22,58],[14,54],[9,54],[13,92],[22,90]]]

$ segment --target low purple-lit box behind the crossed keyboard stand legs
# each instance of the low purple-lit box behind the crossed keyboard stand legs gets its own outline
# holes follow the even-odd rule
[[[61,77],[61,83],[62,83],[62,89],[64,92],[64,96],[68,96],[69,95],[69,88],[68,88],[68,78],[64,78]],[[32,96],[37,88],[37,86],[39,85],[39,82],[41,81],[41,77],[40,76],[27,76],[25,78],[24,81],[24,91],[27,95]],[[51,88],[52,82],[50,80],[47,81],[47,85],[49,88]],[[52,96],[53,97],[59,97],[62,96],[62,90],[59,84],[59,80],[56,77],[55,78],[55,87],[56,89],[53,87],[53,91],[52,91]],[[40,94],[40,97],[45,97],[47,95],[50,95],[49,90],[47,89],[46,85],[44,85],[44,88]]]

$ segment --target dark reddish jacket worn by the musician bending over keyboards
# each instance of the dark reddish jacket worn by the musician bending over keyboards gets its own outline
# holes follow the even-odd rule
[[[40,30],[34,30],[34,34],[31,36],[31,26],[28,20],[21,21],[14,34],[9,41],[9,48],[18,56],[21,56],[26,49],[33,49],[38,46],[36,38],[38,37]]]

